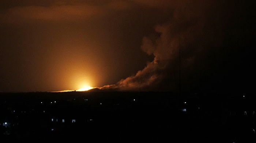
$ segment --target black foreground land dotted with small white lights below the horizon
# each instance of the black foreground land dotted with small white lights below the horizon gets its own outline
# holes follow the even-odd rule
[[[254,95],[0,94],[1,142],[256,142]]]

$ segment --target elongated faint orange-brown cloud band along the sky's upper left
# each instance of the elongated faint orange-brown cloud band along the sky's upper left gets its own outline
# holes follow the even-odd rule
[[[4,23],[31,23],[35,21],[83,21],[93,16],[106,15],[112,11],[130,9],[126,1],[86,3],[83,1],[56,1],[47,5],[14,5],[1,14]]]

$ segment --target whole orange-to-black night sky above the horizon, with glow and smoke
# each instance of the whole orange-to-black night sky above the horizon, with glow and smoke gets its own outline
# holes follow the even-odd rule
[[[1,0],[0,92],[255,93],[255,9],[255,0]]]

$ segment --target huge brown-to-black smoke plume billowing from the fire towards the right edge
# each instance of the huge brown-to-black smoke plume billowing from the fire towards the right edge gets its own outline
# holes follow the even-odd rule
[[[249,44],[241,46],[246,39],[241,39],[241,34],[248,34],[241,26],[248,25],[251,11],[242,3],[183,2],[170,4],[174,11],[169,22],[157,25],[155,33],[142,39],[141,49],[154,55],[154,60],[135,75],[101,89],[178,91],[180,73],[183,91],[219,92],[239,87],[244,80],[234,75],[244,74],[237,64],[244,57],[237,56],[238,49],[248,51],[246,45],[253,41],[251,37]],[[246,27],[250,28],[252,25]]]

